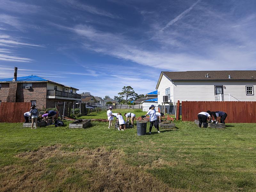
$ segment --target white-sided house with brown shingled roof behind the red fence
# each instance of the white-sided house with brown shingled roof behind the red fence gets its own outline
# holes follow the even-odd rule
[[[182,101],[256,101],[256,71],[162,71],[156,89],[175,105]]]

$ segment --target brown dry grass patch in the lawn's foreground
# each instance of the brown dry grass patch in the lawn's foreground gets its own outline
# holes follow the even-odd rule
[[[24,165],[0,169],[1,191],[185,191],[170,188],[143,168],[124,164],[119,150],[63,151],[57,145],[17,157]],[[170,165],[162,159],[153,164]]]

